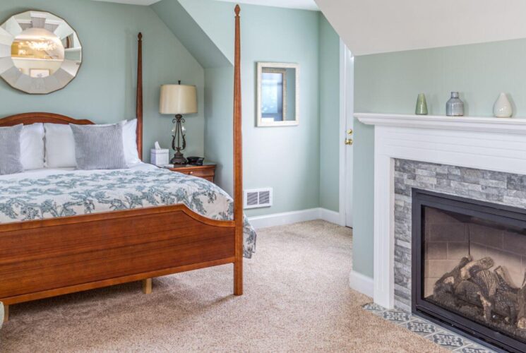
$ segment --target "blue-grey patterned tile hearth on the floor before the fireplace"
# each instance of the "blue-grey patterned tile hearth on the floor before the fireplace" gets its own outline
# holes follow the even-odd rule
[[[442,328],[436,323],[424,320],[400,310],[387,310],[378,304],[365,304],[363,308],[386,321],[402,326],[412,333],[434,342],[436,345],[459,353],[496,353],[488,347],[483,347],[466,337]]]

